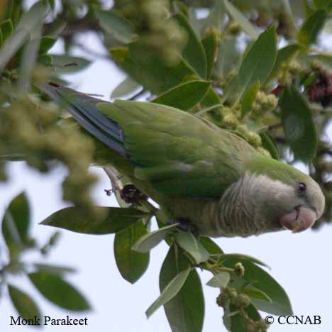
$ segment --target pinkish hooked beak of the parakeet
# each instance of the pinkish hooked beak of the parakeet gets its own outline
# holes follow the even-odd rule
[[[313,226],[316,219],[316,211],[307,206],[297,206],[289,214],[284,214],[280,218],[280,223],[284,228],[290,229],[293,233],[298,233]]]

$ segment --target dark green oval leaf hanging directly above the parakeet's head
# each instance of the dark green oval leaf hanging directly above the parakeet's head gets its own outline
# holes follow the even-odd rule
[[[316,155],[317,131],[311,109],[295,87],[285,87],[280,99],[282,126],[294,157],[309,162]]]

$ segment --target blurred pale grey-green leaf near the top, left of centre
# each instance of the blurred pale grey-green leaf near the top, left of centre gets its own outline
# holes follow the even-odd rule
[[[135,37],[135,27],[133,24],[120,16],[116,11],[96,10],[101,28],[120,43],[128,44]]]

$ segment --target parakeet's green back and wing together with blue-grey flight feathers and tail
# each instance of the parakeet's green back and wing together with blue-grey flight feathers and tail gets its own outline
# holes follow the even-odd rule
[[[220,197],[257,154],[242,138],[169,106],[109,103],[64,87],[41,87],[64,106],[91,135],[127,159],[134,176],[169,197]],[[103,156],[107,153],[104,151]],[[107,159],[107,158],[106,158]]]

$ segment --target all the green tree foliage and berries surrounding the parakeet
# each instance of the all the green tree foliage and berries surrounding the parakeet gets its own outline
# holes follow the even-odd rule
[[[211,272],[208,285],[220,289],[217,304],[223,307],[228,331],[266,331],[259,311],[292,314],[287,294],[260,267],[262,262],[225,254],[209,238],[165,226],[163,211],[147,197],[131,196],[135,188],[116,170],[108,174],[114,186],[121,179],[121,190],[115,187],[121,207],[94,206],[89,197],[95,180],[89,166],[98,159],[94,144],[60,106],[40,93],[38,84],[70,84],[62,74],[83,71],[90,64],[71,55],[74,47],[114,62],[127,77],[110,92],[112,99],[174,106],[240,135],[264,155],[308,165],[326,196],[326,211],[315,226],[319,227],[332,218],[332,148],[325,138],[332,103],[332,53],[322,44],[332,33],[332,2],[115,0],[113,7],[111,1],[98,0],[35,1],[31,7],[24,1],[2,2],[1,179],[6,180],[4,165],[9,160],[25,160],[40,172],[49,172],[58,162],[65,165],[63,198],[74,206],[42,223],[79,233],[116,233],[116,264],[128,282],[143,275],[150,250],[165,240],[170,250],[160,271],[160,297],[146,314],[164,306],[173,332],[202,329],[200,269]],[[79,43],[78,35],[87,31],[96,33],[106,56]],[[57,40],[65,43],[62,55],[52,54]],[[18,270],[58,306],[89,309],[84,297],[62,280],[66,269],[34,264],[31,272],[22,262],[24,250],[38,249],[28,235],[28,216],[21,194],[2,222],[9,260],[1,262],[0,282],[8,287],[18,313],[40,315],[33,299],[10,283]],[[150,231],[151,218],[158,221],[157,231]],[[43,250],[53,242],[50,239]],[[70,299],[63,302],[61,292]]]

